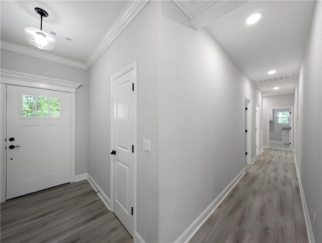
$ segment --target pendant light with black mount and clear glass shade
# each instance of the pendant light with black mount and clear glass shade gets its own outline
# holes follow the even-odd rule
[[[50,34],[42,30],[42,18],[48,17],[48,13],[40,8],[35,8],[35,11],[40,15],[40,30],[31,27],[25,28],[24,32],[26,40],[39,49],[52,50],[55,46],[56,40]]]

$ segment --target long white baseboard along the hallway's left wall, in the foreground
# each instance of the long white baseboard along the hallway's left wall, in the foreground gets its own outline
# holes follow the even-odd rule
[[[201,228],[211,214],[216,210],[218,205],[227,196],[230,190],[235,186],[238,180],[245,174],[243,168],[235,178],[233,178],[227,187],[209,204],[209,206],[188,226],[188,228],[175,240],[175,242],[188,242],[195,233]]]

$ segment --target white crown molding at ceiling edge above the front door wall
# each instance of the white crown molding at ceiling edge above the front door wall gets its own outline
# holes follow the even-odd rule
[[[30,49],[30,48],[27,48],[24,46],[15,45],[15,44],[12,44],[12,43],[9,43],[6,41],[1,41],[0,47],[5,50],[15,51],[15,52],[25,54],[25,55],[31,55],[31,56],[42,58],[45,60],[50,60],[51,62],[75,67],[78,69],[87,69],[85,64],[83,64],[83,63],[75,62],[70,59],[66,59],[63,57],[56,56],[56,55],[48,54],[48,53],[45,53],[45,52],[42,52],[39,50]]]

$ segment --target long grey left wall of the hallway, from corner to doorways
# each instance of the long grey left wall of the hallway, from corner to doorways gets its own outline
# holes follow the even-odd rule
[[[244,168],[245,96],[262,94],[206,31],[162,2],[159,238],[173,242]],[[261,138],[262,139],[262,138]]]

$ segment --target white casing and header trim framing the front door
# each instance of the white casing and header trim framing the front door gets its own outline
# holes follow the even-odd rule
[[[10,70],[0,70],[0,133],[1,133],[1,149],[0,149],[0,194],[1,202],[6,201],[6,184],[7,184],[7,169],[6,169],[6,142],[7,137],[7,85],[18,85],[31,88],[48,89],[55,91],[64,91],[70,93],[70,182],[75,180],[75,93],[76,89],[82,85],[81,83],[53,79],[49,77],[37,76],[27,73],[20,73]]]

